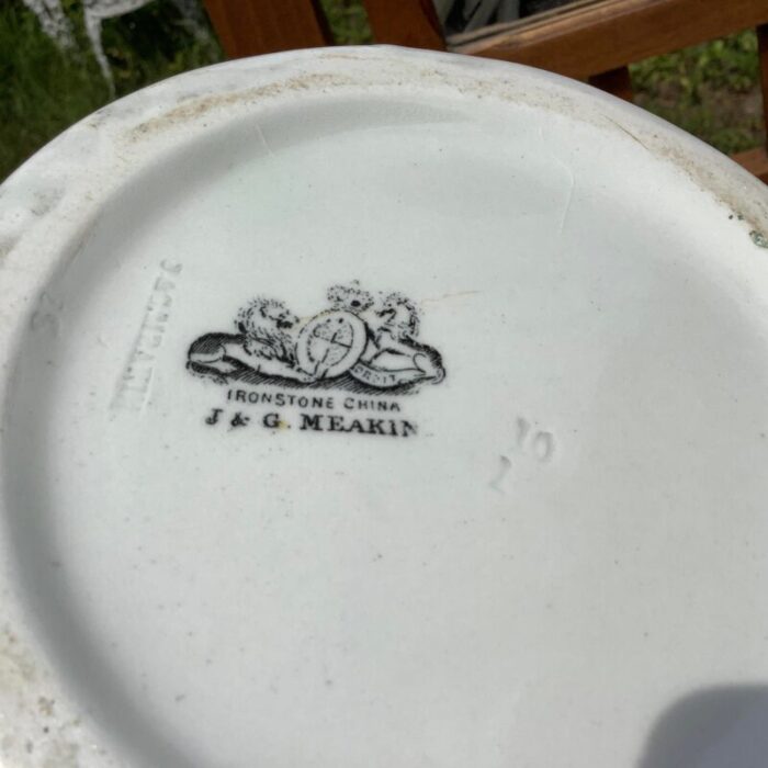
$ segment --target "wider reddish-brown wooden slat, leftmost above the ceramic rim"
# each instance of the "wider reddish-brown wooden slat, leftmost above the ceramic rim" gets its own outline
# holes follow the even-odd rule
[[[317,0],[205,0],[229,58],[332,43]]]

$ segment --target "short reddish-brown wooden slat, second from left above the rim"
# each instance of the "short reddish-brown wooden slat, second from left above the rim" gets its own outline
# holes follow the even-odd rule
[[[376,43],[445,50],[432,0],[364,0]]]

